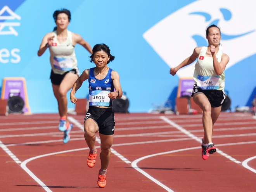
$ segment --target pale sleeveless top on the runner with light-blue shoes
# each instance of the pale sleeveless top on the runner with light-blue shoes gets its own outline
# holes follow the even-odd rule
[[[56,31],[52,32],[52,36],[54,36],[54,39],[52,45],[49,47],[52,71],[55,74],[64,74],[67,71],[77,68],[71,31],[67,31],[67,40],[63,43],[58,42]]]

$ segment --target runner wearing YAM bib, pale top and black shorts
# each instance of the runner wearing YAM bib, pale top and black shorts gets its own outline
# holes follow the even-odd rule
[[[194,72],[194,89],[192,97],[194,102],[202,109],[204,137],[202,139],[202,158],[208,159],[209,154],[216,152],[212,142],[213,125],[218,119],[221,105],[225,100],[225,67],[229,57],[219,48],[221,33],[220,28],[211,25],[206,29],[208,47],[196,47],[193,54],[180,65],[170,69],[170,74],[176,72],[197,59]]]

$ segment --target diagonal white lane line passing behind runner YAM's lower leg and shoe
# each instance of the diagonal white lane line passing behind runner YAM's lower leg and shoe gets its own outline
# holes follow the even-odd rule
[[[171,121],[170,119],[164,117],[164,116],[160,116],[161,119],[163,119],[163,121],[165,121],[166,123],[169,123],[170,125],[176,127],[178,130],[180,130],[182,133],[186,134],[187,136],[193,138],[194,140],[196,140],[197,142],[199,142],[200,144],[202,143],[202,139],[201,138],[198,138],[196,137],[195,135],[193,135],[192,133],[190,133],[189,131],[185,130],[182,126],[174,123],[173,121]],[[214,124],[215,126],[215,124]],[[240,161],[237,161],[235,158],[225,154],[223,151],[221,151],[220,149],[216,148],[216,152],[218,152],[219,154],[221,154],[222,156],[228,158],[229,160],[231,161],[234,161],[235,163],[238,163],[240,164],[241,162]]]

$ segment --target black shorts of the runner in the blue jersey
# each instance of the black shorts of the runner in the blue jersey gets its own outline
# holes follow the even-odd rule
[[[99,133],[113,135],[115,130],[115,116],[111,108],[90,106],[85,115],[86,119],[93,119],[99,126]]]

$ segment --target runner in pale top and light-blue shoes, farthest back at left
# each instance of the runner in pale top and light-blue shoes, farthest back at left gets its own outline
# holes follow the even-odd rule
[[[49,47],[50,64],[52,66],[50,79],[61,116],[59,130],[64,131],[63,142],[67,143],[70,139],[70,131],[73,125],[67,121],[66,94],[79,76],[74,46],[78,43],[88,50],[90,54],[92,54],[92,48],[80,35],[67,30],[71,20],[69,10],[56,10],[53,17],[57,27],[54,28],[53,32],[45,35],[37,54],[38,56],[43,55]]]

